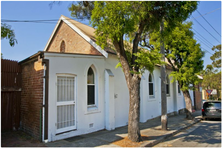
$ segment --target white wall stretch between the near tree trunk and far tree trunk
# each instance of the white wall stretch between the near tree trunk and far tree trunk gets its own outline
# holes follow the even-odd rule
[[[153,71],[154,79],[154,95],[149,95],[149,71],[145,71],[141,79],[140,86],[140,122],[146,122],[149,119],[161,116],[161,79],[160,79],[160,68],[155,67]],[[167,71],[167,74],[170,75],[170,71]],[[170,81],[172,77],[170,77]],[[170,82],[170,94],[167,95],[167,113],[173,113],[180,109],[185,108],[185,101],[182,94],[182,91],[178,93],[178,82]],[[191,91],[192,95],[192,91]]]

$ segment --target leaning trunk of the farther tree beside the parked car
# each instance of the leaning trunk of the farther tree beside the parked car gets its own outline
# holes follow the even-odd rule
[[[183,95],[184,95],[184,99],[185,99],[185,103],[186,103],[186,118],[188,120],[192,120],[193,116],[192,116],[192,101],[190,98],[190,93],[188,90],[183,91]]]

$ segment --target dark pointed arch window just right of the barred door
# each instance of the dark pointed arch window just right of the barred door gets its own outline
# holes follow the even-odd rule
[[[95,106],[95,72],[90,67],[87,73],[87,105],[88,106]]]

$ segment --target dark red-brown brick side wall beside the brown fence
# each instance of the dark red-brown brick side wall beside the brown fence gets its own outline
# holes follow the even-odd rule
[[[41,62],[22,65],[21,128],[41,140],[41,107],[43,99],[43,66]]]

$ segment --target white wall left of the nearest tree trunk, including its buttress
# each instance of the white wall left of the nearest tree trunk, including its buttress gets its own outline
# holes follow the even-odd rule
[[[118,63],[115,55],[106,59],[103,56],[45,53],[45,59],[49,59],[48,141],[127,125],[129,92],[122,69],[115,68]],[[87,108],[87,72],[91,65],[95,67],[98,85],[98,108],[94,110]],[[113,76],[109,76],[107,70]],[[56,133],[58,74],[76,76],[76,130],[60,134]]]

